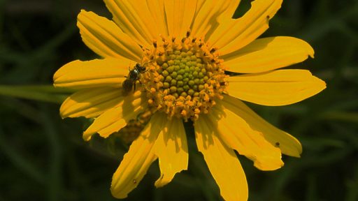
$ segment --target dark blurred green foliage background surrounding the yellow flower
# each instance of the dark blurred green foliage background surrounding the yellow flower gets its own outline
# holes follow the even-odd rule
[[[235,16],[249,7],[243,1]],[[0,84],[51,84],[63,64],[96,58],[76,28],[81,8],[110,17],[101,0],[0,0]],[[291,68],[310,69],[327,89],[285,107],[249,104],[303,144],[301,158],[283,156],[285,166],[273,172],[239,156],[250,200],[358,200],[357,19],[357,0],[290,0],[271,20],[264,36],[295,36],[314,47],[315,59]],[[68,91],[48,103],[48,96],[22,99],[31,96],[17,96],[15,88],[0,96],[0,200],[115,200],[110,179],[127,147],[99,137],[83,142],[85,119],[59,117],[56,103]],[[189,170],[155,189],[155,163],[128,200],[220,200],[194,136],[188,138]]]

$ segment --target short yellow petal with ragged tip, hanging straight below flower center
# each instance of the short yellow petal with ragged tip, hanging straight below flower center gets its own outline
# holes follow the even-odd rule
[[[164,129],[159,133],[154,147],[161,172],[161,176],[155,181],[157,187],[171,182],[177,172],[187,170],[188,161],[187,137],[181,119],[173,117],[171,120],[164,120]]]

